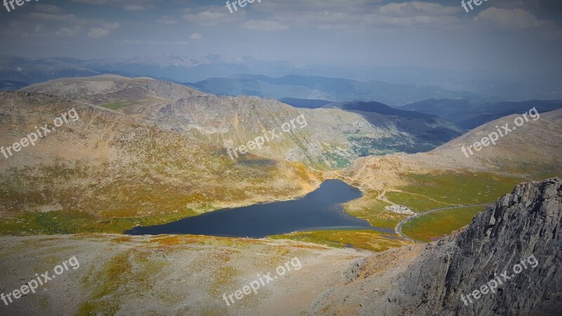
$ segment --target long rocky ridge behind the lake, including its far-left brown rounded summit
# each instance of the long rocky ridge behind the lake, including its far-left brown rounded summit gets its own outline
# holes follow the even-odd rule
[[[302,128],[292,125],[284,136],[252,153],[320,170],[341,169],[368,154],[431,150],[460,135],[460,129],[441,119],[397,117],[393,113],[366,118],[339,109],[300,110],[270,99],[205,96],[192,88],[148,78],[103,75],[58,79],[22,91],[100,105],[221,147],[246,145],[268,131],[280,133],[283,124],[303,115],[306,124]]]

